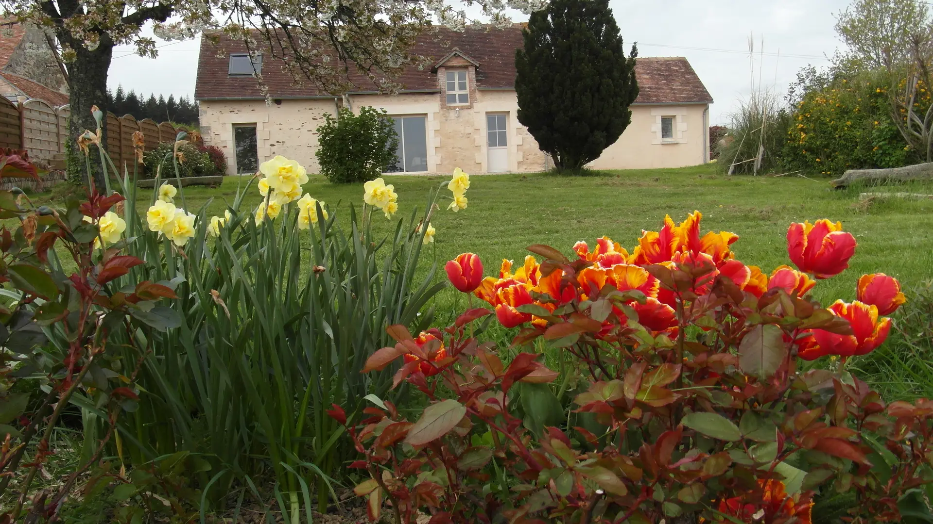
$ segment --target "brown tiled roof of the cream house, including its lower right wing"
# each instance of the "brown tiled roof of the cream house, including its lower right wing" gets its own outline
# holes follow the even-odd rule
[[[522,47],[522,27],[516,23],[504,29],[485,25],[467,26],[463,32],[438,28],[432,34],[423,34],[412,52],[425,56],[437,63],[457,48],[477,67],[477,88],[514,89],[515,49]],[[263,98],[257,81],[252,76],[228,75],[230,53],[246,52],[243,42],[217,34],[215,45],[207,38],[201,39],[201,55],[198,60],[198,79],[194,98],[210,99],[258,99]],[[222,58],[217,58],[222,55]],[[262,78],[269,88],[271,98],[310,98],[328,96],[328,93],[310,82],[296,85],[292,76],[283,71],[278,61],[263,60]],[[711,103],[709,92],[696,76],[687,59],[638,59],[635,65],[640,94],[635,103]],[[350,80],[356,86],[351,92],[375,92],[378,87],[369,78],[351,73]],[[418,69],[408,67],[396,81],[402,91],[439,90],[436,73],[431,67]]]

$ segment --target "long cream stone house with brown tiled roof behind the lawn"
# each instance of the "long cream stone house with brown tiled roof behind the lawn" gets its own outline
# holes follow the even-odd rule
[[[298,85],[271,59],[252,59],[244,44],[222,34],[202,38],[194,98],[201,106],[205,143],[227,153],[228,173],[255,172],[258,162],[283,155],[310,172],[316,128],[326,114],[347,106],[382,108],[396,120],[397,162],[388,172],[540,172],[549,158],[516,118],[515,50],[522,24],[505,29],[468,26],[462,33],[439,29],[424,35],[414,51],[432,66],[409,67],[395,95],[381,94],[365,76],[357,88],[336,97]],[[261,73],[271,103],[253,77]],[[632,123],[595,169],[682,167],[709,160],[709,104],[713,102],[687,59],[639,58],[640,94]]]

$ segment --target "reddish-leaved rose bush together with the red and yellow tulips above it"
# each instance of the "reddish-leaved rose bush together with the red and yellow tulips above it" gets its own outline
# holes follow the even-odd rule
[[[478,256],[449,262],[457,289],[521,329],[497,352],[475,337],[485,308],[417,336],[388,328],[397,344],[364,371],[402,360],[394,385],[427,407],[329,412],[361,455],[370,520],[385,504],[405,523],[809,523],[815,496],[848,491],[852,522],[933,518],[933,403],[886,405],[845,367],[884,341],[897,281],[867,275],[858,300],[824,308],[811,290],[856,249],[842,225],[791,225],[797,269],[769,278],[701,218],[665,218],[631,254],[608,238],[573,258],[533,245],[540,262],[481,282]],[[829,369],[801,363],[827,355]]]

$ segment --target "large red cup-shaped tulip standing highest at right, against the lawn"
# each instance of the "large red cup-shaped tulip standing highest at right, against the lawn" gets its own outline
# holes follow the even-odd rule
[[[822,218],[815,224],[791,224],[787,228],[787,255],[797,269],[817,279],[838,275],[849,267],[856,239],[842,231],[842,222]]]

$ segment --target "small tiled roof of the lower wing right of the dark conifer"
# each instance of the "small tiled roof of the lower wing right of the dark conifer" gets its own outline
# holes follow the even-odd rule
[[[713,103],[684,57],[645,57],[635,61],[635,103]]]

